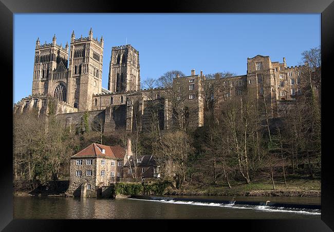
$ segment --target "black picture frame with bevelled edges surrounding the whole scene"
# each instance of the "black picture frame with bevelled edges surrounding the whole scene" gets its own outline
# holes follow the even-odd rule
[[[303,1],[303,0],[281,0],[281,1],[243,1],[234,0],[231,2],[221,1],[166,1],[159,7],[157,2],[144,4],[142,1],[133,3],[125,1],[24,1],[24,0],[1,0],[1,31],[0,36],[1,45],[3,46],[1,61],[2,70],[7,70],[8,75],[3,75],[3,84],[7,86],[3,90],[7,90],[7,98],[3,99],[3,106],[6,106],[6,112],[12,114],[12,100],[10,101],[10,87],[12,87],[13,76],[13,14],[14,13],[321,13],[321,45],[322,45],[322,74],[332,79],[330,74],[333,66],[333,46],[334,46],[334,3],[332,0],[321,1]],[[286,25],[288,28],[288,25]],[[326,93],[326,88],[329,90],[330,80],[325,81],[322,92]],[[4,91],[3,91],[4,92]],[[330,92],[330,90],[329,90]],[[3,93],[4,94],[4,93]],[[329,102],[328,99],[323,98],[323,101]],[[328,105],[329,104],[324,104]],[[8,108],[7,108],[8,107]],[[4,107],[3,107],[4,108]],[[323,108],[325,111],[328,109]],[[329,120],[326,120],[326,115]],[[10,121],[12,115],[4,117],[5,120]],[[322,113],[322,130],[330,132],[331,119],[330,114]],[[72,227],[75,230],[79,229],[102,229],[102,226],[107,226],[110,229],[116,230],[148,230],[150,226],[154,230],[173,230],[180,228],[180,225],[175,225],[179,220],[136,220],[131,226],[126,225],[123,220],[13,220],[13,186],[12,186],[12,156],[10,152],[10,141],[12,140],[12,127],[10,123],[3,121],[2,128],[7,125],[4,139],[9,140],[8,143],[3,142],[3,165],[1,183],[1,217],[0,229],[4,231],[61,231]],[[7,132],[8,131],[8,132]],[[329,137],[330,138],[330,137]],[[334,230],[334,216],[333,216],[333,196],[334,183],[333,173],[330,162],[330,143],[325,141],[329,139],[326,136],[322,138],[322,174],[321,174],[321,190],[322,190],[322,215],[321,220],[188,220],[182,221],[182,226],[187,230],[192,229],[208,229],[211,226],[218,226],[219,230],[232,228],[233,230],[255,230],[255,231],[331,231]],[[9,150],[5,152],[5,150]],[[5,165],[6,164],[6,165]],[[88,222],[88,223],[87,223]],[[138,227],[136,227],[136,225]],[[230,227],[232,226],[232,227]],[[80,228],[81,227],[81,228]],[[151,229],[150,229],[151,230]]]

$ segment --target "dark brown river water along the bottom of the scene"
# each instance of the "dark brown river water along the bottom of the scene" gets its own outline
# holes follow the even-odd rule
[[[270,210],[270,208],[265,207],[212,207],[213,205],[208,204],[185,204],[182,202],[173,204],[133,199],[14,197],[13,204],[15,219],[288,219],[321,217],[319,213],[294,212],[285,209]]]

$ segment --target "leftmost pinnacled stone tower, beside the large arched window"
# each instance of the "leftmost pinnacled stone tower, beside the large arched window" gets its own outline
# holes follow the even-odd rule
[[[35,60],[32,79],[32,95],[54,95],[55,85],[59,84],[61,80],[54,80],[52,71],[62,69],[67,71],[68,62],[68,46],[63,48],[57,45],[57,38],[55,35],[52,38],[52,43],[41,45],[39,38],[36,41]],[[64,102],[66,98],[66,74],[62,75],[62,95],[60,96]]]

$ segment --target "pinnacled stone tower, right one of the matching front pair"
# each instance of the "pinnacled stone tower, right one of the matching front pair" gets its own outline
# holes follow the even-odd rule
[[[93,38],[90,28],[88,37],[76,39],[71,35],[69,56],[69,104],[78,111],[91,110],[92,95],[102,91],[103,37]]]

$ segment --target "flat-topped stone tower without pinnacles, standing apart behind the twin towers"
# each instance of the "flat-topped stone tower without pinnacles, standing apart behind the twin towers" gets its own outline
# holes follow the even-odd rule
[[[112,48],[108,90],[112,92],[140,89],[139,52],[131,45]]]

